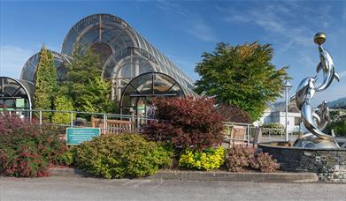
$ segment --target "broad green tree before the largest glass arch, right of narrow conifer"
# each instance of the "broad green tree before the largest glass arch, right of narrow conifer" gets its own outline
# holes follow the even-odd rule
[[[73,61],[67,65],[69,96],[78,111],[114,112],[110,100],[111,84],[101,78],[102,65],[99,56],[91,49],[77,45],[73,50]]]

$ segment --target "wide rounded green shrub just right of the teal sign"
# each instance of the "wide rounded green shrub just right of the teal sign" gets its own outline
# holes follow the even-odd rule
[[[148,142],[138,134],[107,135],[77,148],[76,165],[92,175],[107,179],[154,175],[172,165],[173,152]]]

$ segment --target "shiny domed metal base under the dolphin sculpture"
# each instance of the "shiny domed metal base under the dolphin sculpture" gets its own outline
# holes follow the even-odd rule
[[[297,138],[293,144],[297,148],[311,149],[336,149],[340,148],[334,138],[319,138],[312,134],[305,134],[302,138]]]

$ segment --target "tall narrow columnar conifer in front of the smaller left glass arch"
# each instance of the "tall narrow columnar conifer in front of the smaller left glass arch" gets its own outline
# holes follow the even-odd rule
[[[51,109],[56,91],[57,71],[54,67],[54,56],[43,46],[35,74],[35,108]],[[45,119],[50,118],[48,113],[42,115]]]

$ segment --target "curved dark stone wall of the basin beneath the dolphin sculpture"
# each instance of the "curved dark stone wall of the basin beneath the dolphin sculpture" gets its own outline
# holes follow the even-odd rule
[[[258,150],[272,155],[284,171],[313,172],[321,181],[346,182],[346,149],[304,149],[277,142],[258,144]]]

